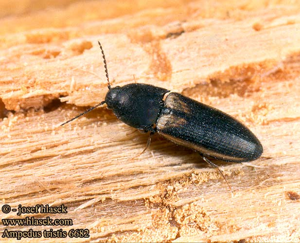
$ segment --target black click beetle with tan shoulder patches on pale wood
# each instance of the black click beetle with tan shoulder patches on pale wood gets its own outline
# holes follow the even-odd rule
[[[149,147],[151,135],[158,132],[176,144],[198,151],[207,163],[217,169],[206,156],[228,162],[246,162],[261,156],[263,146],[255,135],[240,121],[220,110],[153,85],[110,87],[104,51],[98,43],[108,83],[105,101],[70,121],[106,104],[127,125],[150,132],[143,151]]]

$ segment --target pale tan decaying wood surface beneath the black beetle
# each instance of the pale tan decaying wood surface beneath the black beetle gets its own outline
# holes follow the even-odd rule
[[[68,218],[73,225],[1,224],[1,234],[87,228],[89,238],[23,240],[300,241],[300,201],[290,196],[300,193],[296,3],[125,0],[63,6],[1,20],[0,196],[1,205],[12,208],[64,204],[66,215],[23,218]],[[105,98],[98,40],[112,86],[136,81],[172,89],[231,114],[257,135],[264,146],[260,159],[215,161],[233,192],[197,153],[159,136],[132,159],[147,135],[105,107],[59,126]]]

